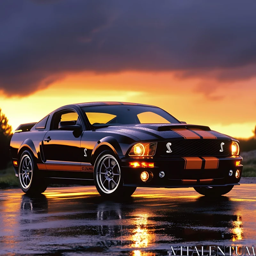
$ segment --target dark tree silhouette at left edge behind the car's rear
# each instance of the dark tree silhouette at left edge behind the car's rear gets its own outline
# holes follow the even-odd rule
[[[10,162],[10,141],[12,138],[12,126],[0,109],[0,169],[4,169]]]

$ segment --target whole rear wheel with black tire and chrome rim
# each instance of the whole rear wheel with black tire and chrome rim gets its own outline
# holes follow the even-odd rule
[[[47,183],[41,177],[34,156],[25,150],[20,156],[18,178],[20,188],[29,195],[38,195],[47,188]]]

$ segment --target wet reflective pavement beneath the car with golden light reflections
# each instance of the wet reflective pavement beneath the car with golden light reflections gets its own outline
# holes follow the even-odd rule
[[[137,188],[105,201],[95,187],[0,191],[0,254],[170,255],[171,245],[255,245],[256,185],[207,199],[193,188]]]

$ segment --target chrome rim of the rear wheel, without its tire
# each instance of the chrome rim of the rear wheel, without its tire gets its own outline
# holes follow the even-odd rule
[[[33,177],[32,162],[28,155],[22,156],[20,160],[19,179],[22,188],[29,188]]]

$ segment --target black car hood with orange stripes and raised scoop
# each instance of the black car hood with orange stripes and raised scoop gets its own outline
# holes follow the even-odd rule
[[[225,139],[236,140],[228,135],[212,131],[208,126],[195,124],[122,124],[97,129],[97,131],[121,132],[138,140],[168,139]]]

